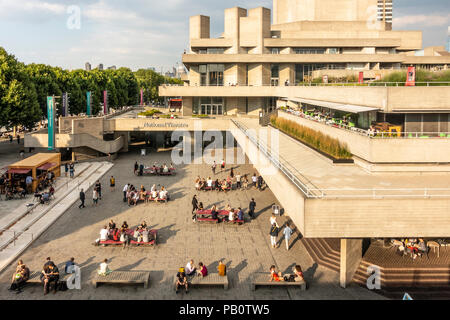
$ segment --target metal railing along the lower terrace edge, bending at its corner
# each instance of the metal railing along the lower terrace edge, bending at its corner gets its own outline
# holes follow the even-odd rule
[[[271,163],[281,170],[284,175],[306,196],[308,199],[391,199],[391,198],[450,198],[450,188],[330,188],[321,189],[310,187],[311,184],[294,166],[278,153],[275,153],[258,137],[251,134],[248,128],[231,119],[234,125],[262,152]],[[305,183],[304,181],[308,181]]]

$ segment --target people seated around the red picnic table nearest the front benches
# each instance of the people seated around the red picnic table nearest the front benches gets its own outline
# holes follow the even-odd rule
[[[101,242],[109,240],[129,245],[130,241],[149,243],[155,240],[155,237],[145,221],[131,229],[126,221],[119,228],[113,220],[110,220],[108,225],[100,230],[100,238],[96,240],[96,243],[101,244]]]

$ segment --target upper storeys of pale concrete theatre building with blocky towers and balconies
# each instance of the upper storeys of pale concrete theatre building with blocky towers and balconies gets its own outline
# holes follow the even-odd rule
[[[267,8],[226,9],[224,33],[219,38],[209,37],[209,17],[191,17],[190,50],[183,55],[183,63],[189,70],[186,85],[160,87],[160,95],[186,97],[186,114],[233,115],[237,110],[256,114],[255,108],[273,109],[276,98],[306,98],[305,91],[310,88],[294,85],[304,85],[314,78],[327,76],[342,81],[357,78],[363,72],[365,80],[373,80],[410,65],[430,70],[446,70],[450,66],[450,56],[440,54],[441,48],[426,49],[423,56],[415,55],[422,49],[422,32],[392,31],[391,0],[274,0],[273,8],[273,24]],[[287,85],[289,90],[282,89]],[[311,92],[309,98],[325,100],[322,90],[334,91],[327,101],[342,100],[343,95],[358,97],[351,90],[333,89],[320,88]],[[424,92],[418,87],[402,89],[404,93],[399,89],[392,96],[400,101],[397,109],[409,108],[405,97],[423,97],[426,93],[426,105],[419,108],[450,111],[445,98],[435,103],[439,95],[434,92]],[[379,91],[366,90],[364,94],[376,98],[364,97],[363,105],[376,103],[378,108],[385,109],[391,97],[382,97]],[[190,100],[191,97],[194,99]],[[221,108],[195,97],[220,98]],[[247,97],[252,97],[252,101],[239,99]],[[394,109],[384,111],[395,112]]]

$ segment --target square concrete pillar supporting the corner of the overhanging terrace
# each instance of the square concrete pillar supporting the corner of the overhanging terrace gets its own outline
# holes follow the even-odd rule
[[[341,239],[340,284],[346,288],[362,259],[362,239]]]

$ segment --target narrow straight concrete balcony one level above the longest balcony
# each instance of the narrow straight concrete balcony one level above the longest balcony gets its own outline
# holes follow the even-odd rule
[[[184,64],[203,63],[402,63],[400,54],[184,54]]]

